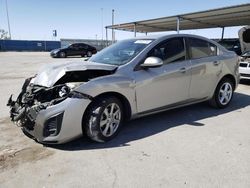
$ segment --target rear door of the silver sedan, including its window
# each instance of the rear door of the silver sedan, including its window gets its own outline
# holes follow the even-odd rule
[[[191,62],[190,97],[203,99],[210,96],[217,84],[222,69],[222,60],[217,56],[217,46],[206,40],[186,38]]]

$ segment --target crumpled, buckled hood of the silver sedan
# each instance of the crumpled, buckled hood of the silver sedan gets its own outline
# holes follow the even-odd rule
[[[31,80],[35,85],[51,87],[67,72],[85,71],[85,70],[106,70],[114,71],[115,65],[100,64],[94,62],[69,62],[47,65],[42,68],[38,74]]]

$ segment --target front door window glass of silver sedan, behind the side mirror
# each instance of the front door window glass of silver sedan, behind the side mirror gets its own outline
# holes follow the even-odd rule
[[[164,64],[183,61],[186,59],[183,38],[166,40],[152,49],[148,57],[158,57]]]

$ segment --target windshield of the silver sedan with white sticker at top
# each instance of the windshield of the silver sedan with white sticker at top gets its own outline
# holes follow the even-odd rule
[[[124,65],[131,61],[152,41],[151,39],[130,39],[120,41],[103,49],[91,57],[89,61],[110,65]]]

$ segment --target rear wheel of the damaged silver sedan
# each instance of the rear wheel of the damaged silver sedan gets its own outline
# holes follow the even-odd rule
[[[217,85],[209,104],[215,108],[225,108],[229,105],[234,94],[234,84],[231,79],[223,78]]]

